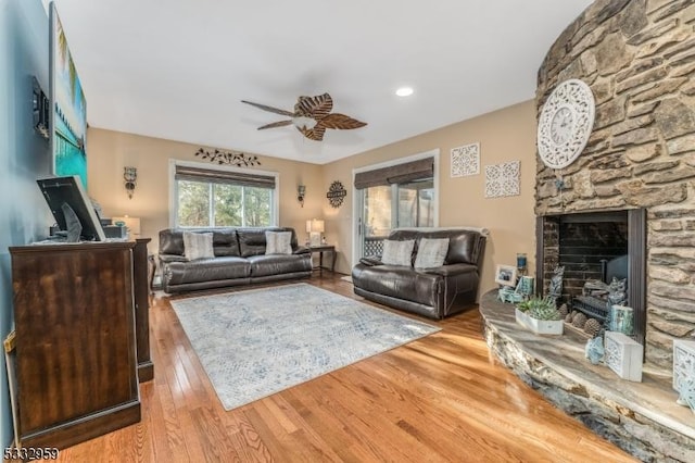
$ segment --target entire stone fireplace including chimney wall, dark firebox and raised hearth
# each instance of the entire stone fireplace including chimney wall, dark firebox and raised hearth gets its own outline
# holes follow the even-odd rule
[[[585,359],[586,337],[519,329],[481,298],[488,346],[551,402],[642,461],[695,461],[691,411],[675,403],[673,340],[695,339],[695,4],[596,0],[552,46],[536,109],[567,79],[595,99],[589,142],[570,165],[538,159],[536,284],[566,266],[563,297],[627,277],[644,346],[642,381]],[[622,266],[620,262],[623,262]],[[542,285],[542,286],[541,286]]]

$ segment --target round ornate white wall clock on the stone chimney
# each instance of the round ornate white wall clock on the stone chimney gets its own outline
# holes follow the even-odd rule
[[[539,120],[539,154],[551,168],[570,165],[581,154],[594,126],[594,95],[580,79],[559,84]]]

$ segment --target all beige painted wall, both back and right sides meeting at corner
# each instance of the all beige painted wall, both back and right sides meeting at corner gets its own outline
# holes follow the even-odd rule
[[[353,170],[439,149],[440,226],[490,229],[481,284],[481,291],[486,291],[495,286],[496,264],[515,265],[517,252],[526,252],[530,268],[534,265],[534,108],[533,101],[527,101],[326,165],[260,157],[262,165],[256,168],[280,173],[280,225],[294,227],[303,239],[305,221],[324,217],[326,238],[339,251],[336,268],[349,274],[352,266]],[[480,142],[480,175],[451,178],[452,148],[472,142]],[[154,252],[157,232],[169,224],[169,159],[203,162],[193,155],[198,148],[197,145],[90,128],[89,193],[106,215],[141,217],[141,235],[153,239],[150,251]],[[484,166],[516,160],[521,161],[521,195],[484,198]],[[132,199],[128,199],[123,186],[126,165],[138,167],[138,185]],[[340,180],[348,189],[339,209],[331,208],[326,199],[334,180]],[[299,183],[306,185],[304,208],[296,201]]]

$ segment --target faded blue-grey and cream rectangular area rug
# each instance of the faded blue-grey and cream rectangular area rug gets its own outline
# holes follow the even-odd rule
[[[307,284],[172,305],[225,410],[440,330]]]

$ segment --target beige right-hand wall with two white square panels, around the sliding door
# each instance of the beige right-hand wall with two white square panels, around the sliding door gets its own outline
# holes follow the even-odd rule
[[[326,237],[340,250],[337,270],[350,273],[351,267],[353,170],[433,149],[440,150],[440,226],[490,229],[481,291],[496,286],[496,264],[516,265],[517,252],[529,255],[529,265],[533,270],[535,127],[535,105],[533,101],[527,101],[324,165],[325,190],[333,180],[342,182],[348,188],[348,197],[340,209],[328,203],[324,205]],[[452,148],[473,142],[480,142],[480,175],[452,178]],[[486,199],[484,166],[516,160],[521,161],[521,195]]]

